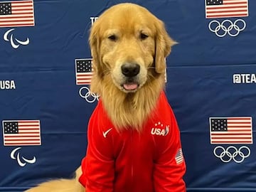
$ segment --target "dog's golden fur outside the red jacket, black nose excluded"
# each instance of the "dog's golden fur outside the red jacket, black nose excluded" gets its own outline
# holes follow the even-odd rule
[[[91,90],[100,95],[117,129],[141,129],[164,89],[165,58],[174,42],[164,23],[142,6],[118,4],[93,24],[90,48],[94,75]],[[136,76],[127,77],[122,66],[139,65]],[[49,181],[27,192],[84,191],[73,180]]]

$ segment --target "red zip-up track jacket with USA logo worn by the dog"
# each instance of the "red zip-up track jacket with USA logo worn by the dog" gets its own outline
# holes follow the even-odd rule
[[[183,192],[186,171],[174,113],[161,93],[142,132],[117,132],[98,102],[80,183],[86,192]]]

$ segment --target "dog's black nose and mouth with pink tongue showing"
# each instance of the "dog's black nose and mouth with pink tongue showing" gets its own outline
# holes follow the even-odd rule
[[[137,63],[125,63],[121,66],[121,70],[126,79],[122,87],[128,91],[137,90],[139,87],[137,75],[139,74],[140,66]]]

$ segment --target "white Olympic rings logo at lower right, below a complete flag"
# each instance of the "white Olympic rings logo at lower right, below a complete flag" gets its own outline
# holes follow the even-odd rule
[[[247,146],[240,146],[239,149],[237,149],[235,146],[228,146],[227,149],[225,149],[223,146],[216,146],[213,150],[213,154],[220,158],[223,163],[228,163],[233,160],[240,164],[245,160],[245,158],[250,156],[250,149]]]

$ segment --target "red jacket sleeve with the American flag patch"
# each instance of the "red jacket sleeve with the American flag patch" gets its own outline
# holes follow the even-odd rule
[[[159,156],[154,164],[155,192],[184,192],[186,185],[183,175],[186,164],[181,149],[181,139],[178,125],[171,111],[169,134],[160,141]]]

